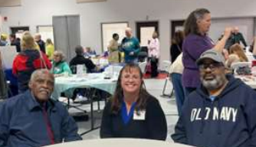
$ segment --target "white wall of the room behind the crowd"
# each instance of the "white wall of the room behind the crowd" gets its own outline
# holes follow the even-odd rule
[[[21,0],[21,7],[0,8],[7,16],[3,31],[10,26],[28,25],[35,33],[37,25],[51,24],[53,15],[80,15],[81,45],[101,51],[100,23],[129,21],[159,21],[161,59],[169,59],[170,20],[184,19],[195,8],[208,8],[212,17],[256,15],[255,0],[107,0],[81,3],[75,0]]]

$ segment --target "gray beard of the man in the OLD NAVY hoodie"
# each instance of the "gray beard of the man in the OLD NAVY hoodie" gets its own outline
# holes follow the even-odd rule
[[[224,83],[224,80],[222,80],[222,77],[220,75],[216,76],[213,80],[205,80],[201,77],[202,85],[207,90],[216,90],[219,87],[221,87]]]

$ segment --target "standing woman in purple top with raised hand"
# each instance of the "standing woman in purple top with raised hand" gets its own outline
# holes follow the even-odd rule
[[[200,85],[199,69],[195,64],[200,55],[213,47],[222,51],[225,42],[231,34],[231,28],[226,28],[222,40],[214,44],[208,37],[208,31],[211,26],[211,14],[205,8],[198,8],[192,11],[185,20],[184,33],[185,40],[182,44],[183,57],[182,62],[184,71],[182,73],[182,85],[185,87],[185,96],[194,91]]]

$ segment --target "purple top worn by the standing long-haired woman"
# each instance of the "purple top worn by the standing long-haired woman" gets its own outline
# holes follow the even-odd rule
[[[197,60],[204,51],[212,49],[212,47],[214,47],[214,44],[207,35],[200,36],[198,34],[189,34],[185,38],[182,44],[182,62],[184,65],[182,73],[183,87],[199,87],[201,83],[200,75],[195,60]]]

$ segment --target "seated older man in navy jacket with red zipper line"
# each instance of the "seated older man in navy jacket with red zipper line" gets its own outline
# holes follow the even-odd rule
[[[35,70],[29,90],[0,106],[0,146],[38,147],[80,140],[77,124],[67,109],[51,100],[54,75]]]

